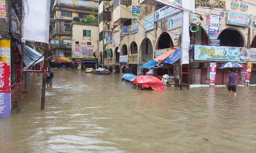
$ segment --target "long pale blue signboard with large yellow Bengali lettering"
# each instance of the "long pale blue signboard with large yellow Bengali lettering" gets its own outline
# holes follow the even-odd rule
[[[239,62],[240,48],[194,45],[194,60]]]

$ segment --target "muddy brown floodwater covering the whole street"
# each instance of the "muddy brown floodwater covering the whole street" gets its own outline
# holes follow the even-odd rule
[[[43,111],[38,74],[20,113],[0,118],[1,153],[256,152],[256,87],[136,90],[119,74],[53,71]]]

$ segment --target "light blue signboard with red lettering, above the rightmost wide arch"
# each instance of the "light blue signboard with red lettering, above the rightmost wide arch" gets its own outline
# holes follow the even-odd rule
[[[238,13],[228,12],[227,24],[234,26],[249,27],[250,16]]]

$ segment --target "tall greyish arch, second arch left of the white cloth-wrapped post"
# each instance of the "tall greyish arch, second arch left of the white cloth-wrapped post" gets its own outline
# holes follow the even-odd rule
[[[140,46],[141,59],[140,62],[147,62],[153,59],[153,47],[150,39],[145,38],[141,42]]]

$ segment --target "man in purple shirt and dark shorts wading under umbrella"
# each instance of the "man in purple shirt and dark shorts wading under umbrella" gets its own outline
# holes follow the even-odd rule
[[[228,95],[231,95],[231,90],[233,91],[233,95],[237,96],[237,80],[238,80],[238,75],[237,73],[233,73],[233,69],[229,68],[228,69],[228,74],[227,74],[227,84],[226,87],[228,87]]]

